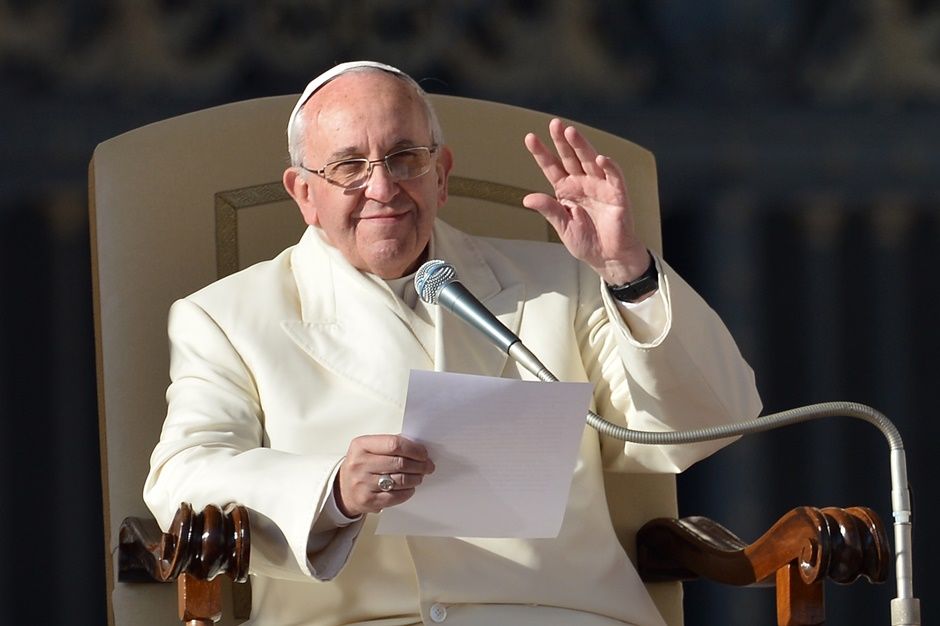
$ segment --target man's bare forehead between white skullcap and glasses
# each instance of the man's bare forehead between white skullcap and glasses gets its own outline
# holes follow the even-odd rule
[[[313,95],[304,114],[310,122],[307,145],[314,154],[368,154],[430,141],[420,96],[385,72],[353,72],[330,81]]]

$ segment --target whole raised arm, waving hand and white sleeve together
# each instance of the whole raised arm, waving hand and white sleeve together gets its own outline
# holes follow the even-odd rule
[[[753,373],[718,318],[664,261],[659,289],[638,316],[607,285],[630,282],[650,255],[633,226],[619,167],[574,128],[552,120],[557,154],[535,135],[525,143],[555,195],[530,194],[568,251],[590,268],[581,279],[578,329],[585,368],[598,383],[598,412],[637,430],[681,430],[750,419],[760,412]],[[629,307],[627,307],[629,309]],[[676,472],[729,440],[686,446],[603,441],[609,468]]]

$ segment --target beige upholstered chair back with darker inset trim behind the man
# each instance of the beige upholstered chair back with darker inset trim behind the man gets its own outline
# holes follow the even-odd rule
[[[118,528],[146,516],[141,490],[159,438],[168,383],[170,303],[217,278],[270,258],[303,231],[281,186],[288,157],[284,127],[295,96],[262,98],[165,120],[106,141],[90,171],[98,398],[112,624],[174,624],[173,585],[116,583]],[[455,165],[441,216],[467,231],[548,239],[549,227],[521,207],[547,190],[525,150],[527,131],[547,135],[549,116],[516,107],[434,96]],[[621,164],[644,240],[660,247],[652,154],[584,129]],[[618,534],[651,517],[675,514],[672,476],[609,481]],[[572,581],[577,584],[577,581]],[[656,586],[670,624],[681,624],[681,589]],[[230,621],[227,612],[224,624]]]

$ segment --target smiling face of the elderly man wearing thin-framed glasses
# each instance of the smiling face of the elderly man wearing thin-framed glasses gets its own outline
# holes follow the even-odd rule
[[[431,144],[427,115],[407,83],[384,72],[350,73],[326,84],[301,111],[306,117],[304,166],[319,169],[349,158],[381,159]],[[344,189],[289,168],[284,184],[308,224],[323,229],[352,265],[398,278],[424,260],[438,208],[447,199],[450,152],[431,156],[427,174],[394,181],[383,163],[362,189]]]

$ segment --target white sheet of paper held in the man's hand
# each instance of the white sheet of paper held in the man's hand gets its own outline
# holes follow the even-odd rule
[[[376,533],[558,536],[591,401],[590,383],[413,370],[402,434],[435,471],[382,511]]]

